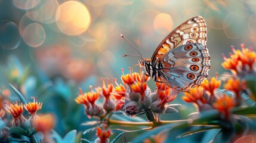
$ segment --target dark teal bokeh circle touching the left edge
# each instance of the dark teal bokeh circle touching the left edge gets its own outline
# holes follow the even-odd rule
[[[20,45],[20,33],[17,24],[5,23],[0,29],[0,44],[4,49],[15,49]]]

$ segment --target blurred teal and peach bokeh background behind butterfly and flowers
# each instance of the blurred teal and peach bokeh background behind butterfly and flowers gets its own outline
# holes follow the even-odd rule
[[[102,77],[121,82],[121,68],[128,73],[138,63],[122,57],[138,53],[120,35],[150,58],[171,30],[196,15],[208,26],[209,76],[223,73],[221,54],[229,55],[231,45],[255,48],[254,0],[0,0],[0,86],[11,83],[28,100],[39,97],[41,113],[55,114],[60,135],[85,130],[81,123],[93,119],[74,101],[78,88],[87,92]],[[155,89],[153,81],[150,86]],[[13,92],[10,100],[18,100]],[[180,113],[163,119],[195,111],[180,96],[173,103],[183,104]]]

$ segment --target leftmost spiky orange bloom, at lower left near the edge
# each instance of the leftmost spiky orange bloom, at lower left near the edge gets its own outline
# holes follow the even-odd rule
[[[19,117],[20,115],[22,115],[22,113],[24,111],[23,110],[23,104],[22,103],[20,104],[20,101],[19,102],[16,101],[15,103],[13,102],[10,105],[6,104],[5,109],[14,118]]]

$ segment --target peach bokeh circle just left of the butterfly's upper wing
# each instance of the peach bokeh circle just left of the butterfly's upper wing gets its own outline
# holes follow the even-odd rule
[[[169,14],[161,13],[156,15],[153,26],[157,33],[164,35],[171,32],[173,21]]]

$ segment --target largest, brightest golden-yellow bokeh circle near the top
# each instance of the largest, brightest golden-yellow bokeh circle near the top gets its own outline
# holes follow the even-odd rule
[[[58,7],[56,23],[62,33],[79,35],[90,26],[91,15],[87,7],[81,2],[67,1]]]

